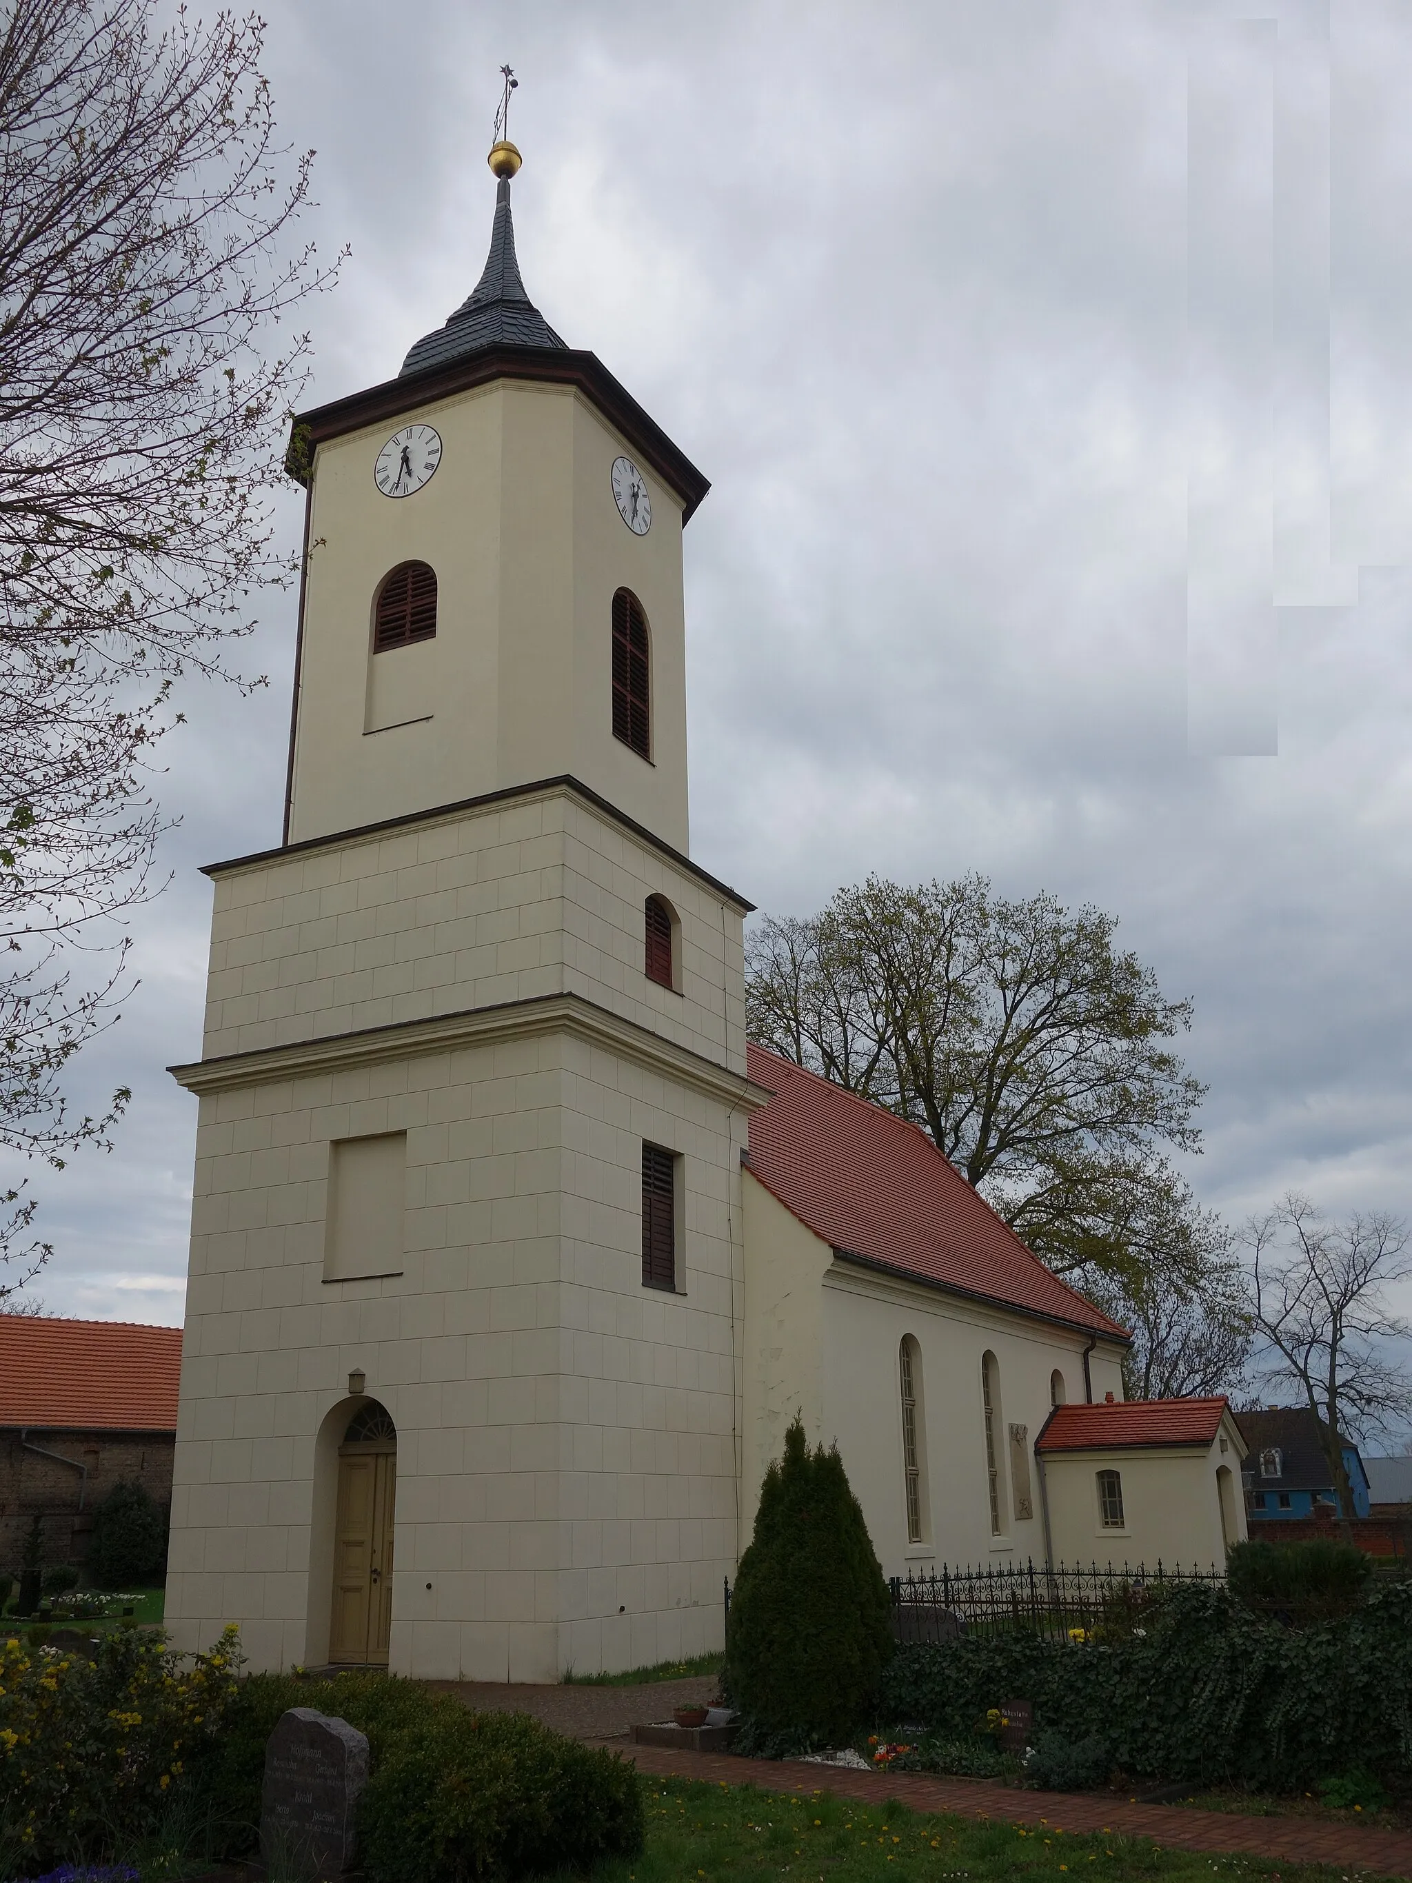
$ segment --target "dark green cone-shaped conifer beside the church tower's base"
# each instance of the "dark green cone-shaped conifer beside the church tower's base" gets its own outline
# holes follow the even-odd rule
[[[764,1474],[730,1597],[723,1685],[746,1746],[843,1744],[891,1653],[887,1584],[838,1446],[811,1452],[796,1418]]]

